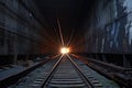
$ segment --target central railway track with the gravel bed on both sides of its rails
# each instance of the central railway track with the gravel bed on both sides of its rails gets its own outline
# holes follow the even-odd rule
[[[100,82],[96,72],[69,55],[62,55],[58,61],[51,62],[9,88],[119,88],[111,86],[112,82],[105,78],[101,78],[105,84]]]

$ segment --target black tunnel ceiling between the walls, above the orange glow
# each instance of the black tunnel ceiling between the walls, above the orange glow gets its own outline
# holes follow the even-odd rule
[[[44,16],[44,28],[51,37],[59,37],[58,20],[65,43],[70,37],[73,44],[82,38],[82,23],[88,18],[92,0],[35,0],[35,3]]]

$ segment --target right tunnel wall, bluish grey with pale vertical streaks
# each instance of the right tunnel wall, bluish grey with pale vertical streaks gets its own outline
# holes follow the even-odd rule
[[[99,0],[84,29],[87,53],[132,53],[132,0]]]

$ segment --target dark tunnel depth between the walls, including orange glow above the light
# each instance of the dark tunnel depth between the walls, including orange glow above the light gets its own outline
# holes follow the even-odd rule
[[[59,29],[62,31],[64,46],[69,46],[73,52],[85,52],[85,20],[88,19],[94,0],[34,0],[44,18],[44,30],[53,48],[48,47],[51,42],[46,42],[47,50],[59,52],[62,46]],[[78,42],[78,43],[77,43]]]

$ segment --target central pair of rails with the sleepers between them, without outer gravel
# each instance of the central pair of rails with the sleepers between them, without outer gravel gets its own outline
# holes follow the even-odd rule
[[[97,88],[69,57],[61,57],[41,88]]]

